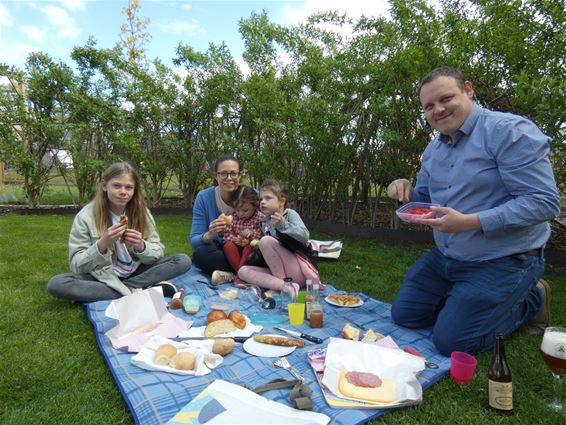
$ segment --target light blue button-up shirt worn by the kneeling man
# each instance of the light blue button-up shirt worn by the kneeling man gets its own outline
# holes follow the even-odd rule
[[[474,105],[454,140],[434,138],[423,155],[411,201],[477,213],[482,231],[434,231],[440,251],[463,261],[544,246],[560,196],[550,139],[531,121]]]

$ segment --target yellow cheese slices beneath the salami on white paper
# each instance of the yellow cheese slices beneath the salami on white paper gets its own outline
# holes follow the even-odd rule
[[[349,378],[349,379],[348,379]],[[356,400],[391,403],[397,400],[397,386],[392,379],[380,379],[372,373],[340,371],[338,389]]]

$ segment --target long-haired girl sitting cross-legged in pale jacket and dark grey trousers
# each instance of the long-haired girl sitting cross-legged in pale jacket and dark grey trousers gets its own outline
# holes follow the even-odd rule
[[[72,273],[53,277],[47,290],[58,298],[93,302],[159,284],[165,296],[172,296],[177,288],[162,281],[186,272],[191,260],[185,254],[164,257],[163,250],[138,174],[127,162],[116,162],[104,171],[95,198],[73,221]]]

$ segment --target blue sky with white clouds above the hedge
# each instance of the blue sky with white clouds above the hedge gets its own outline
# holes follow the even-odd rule
[[[238,21],[266,10],[269,20],[285,26],[309,15],[338,10],[352,18],[387,16],[387,0],[140,0],[139,17],[149,17],[147,57],[171,66],[180,42],[205,52],[225,42],[241,62],[244,43]],[[27,55],[43,51],[73,64],[70,53],[93,36],[98,47],[120,40],[128,0],[0,0],[0,63],[23,68]]]

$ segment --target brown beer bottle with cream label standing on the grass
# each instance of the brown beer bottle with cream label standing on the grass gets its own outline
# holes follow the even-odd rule
[[[503,346],[503,334],[495,334],[495,346],[491,364],[487,370],[489,383],[489,407],[497,413],[513,413],[513,382],[511,370],[505,358],[505,347]]]

